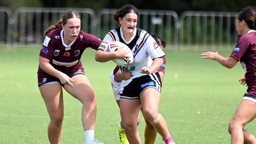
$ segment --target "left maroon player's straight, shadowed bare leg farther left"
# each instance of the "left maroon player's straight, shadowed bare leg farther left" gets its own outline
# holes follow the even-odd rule
[[[64,111],[61,85],[59,83],[41,85],[39,90],[50,116],[50,123],[48,125],[50,144],[59,144]]]

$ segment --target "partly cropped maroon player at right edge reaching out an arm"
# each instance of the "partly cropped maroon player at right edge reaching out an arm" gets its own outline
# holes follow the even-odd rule
[[[202,58],[215,60],[227,68],[233,68],[238,61],[241,62],[245,78],[239,81],[241,84],[246,82],[248,89],[230,120],[228,132],[232,144],[255,144],[256,138],[244,127],[256,117],[256,7],[246,7],[239,12],[236,29],[238,35],[242,36],[230,57],[222,57],[217,52],[205,52],[201,55],[204,56]]]

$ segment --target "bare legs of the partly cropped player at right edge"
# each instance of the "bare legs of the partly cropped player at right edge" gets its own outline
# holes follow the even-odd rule
[[[228,127],[228,132],[231,134],[232,144],[243,144],[244,141],[254,141],[254,138],[251,137],[250,133],[247,133],[247,131],[243,133],[243,127],[255,117],[256,103],[250,100],[242,100],[236,110],[236,113],[230,120]]]

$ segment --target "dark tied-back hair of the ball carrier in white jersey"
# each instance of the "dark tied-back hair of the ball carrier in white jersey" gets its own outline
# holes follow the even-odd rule
[[[126,4],[122,6],[120,9],[117,9],[114,13],[114,20],[119,23],[119,17],[123,18],[127,13],[135,13],[137,16],[139,16],[137,7],[131,5],[131,4]]]

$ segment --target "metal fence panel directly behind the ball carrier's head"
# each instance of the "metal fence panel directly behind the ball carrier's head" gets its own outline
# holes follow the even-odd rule
[[[117,28],[119,24],[113,20],[116,9],[101,9],[97,13],[97,35],[104,38],[108,31]],[[137,28],[158,34],[165,39],[167,48],[178,49],[178,15],[174,11],[139,10]]]

